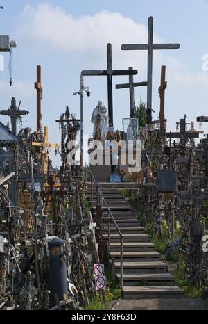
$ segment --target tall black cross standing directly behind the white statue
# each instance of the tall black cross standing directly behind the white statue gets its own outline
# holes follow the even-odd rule
[[[112,99],[112,75],[135,75],[137,70],[112,70],[112,45],[107,44],[107,70],[84,70],[81,72],[84,76],[107,76],[107,99],[109,126],[113,126],[113,99]]]

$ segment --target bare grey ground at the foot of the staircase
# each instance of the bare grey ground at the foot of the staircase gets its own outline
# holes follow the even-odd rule
[[[208,300],[200,298],[158,298],[113,300],[112,310],[208,310]]]

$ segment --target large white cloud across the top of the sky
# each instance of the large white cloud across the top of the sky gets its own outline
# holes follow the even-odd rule
[[[147,29],[143,24],[123,17],[121,13],[102,11],[94,16],[73,17],[59,7],[49,3],[37,7],[26,6],[20,17],[19,32],[28,38],[65,50],[102,49],[103,44],[113,42],[147,41]],[[155,40],[159,39],[155,37]]]

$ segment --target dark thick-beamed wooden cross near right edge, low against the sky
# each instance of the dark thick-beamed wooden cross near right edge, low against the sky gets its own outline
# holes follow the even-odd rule
[[[180,126],[180,131],[178,133],[166,133],[167,138],[180,138],[180,145],[185,145],[188,138],[199,138],[199,134],[204,133],[203,131],[186,131],[186,126],[188,124],[193,125],[193,123],[187,123],[186,118],[187,116],[184,115],[184,118],[180,119],[179,123],[177,122]]]

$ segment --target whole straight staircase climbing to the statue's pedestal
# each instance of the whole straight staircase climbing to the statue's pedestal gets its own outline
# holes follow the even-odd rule
[[[182,296],[184,291],[175,286],[175,277],[168,273],[168,266],[162,261],[161,254],[155,251],[155,244],[150,242],[144,227],[139,225],[137,213],[121,195],[119,189],[123,184],[100,185],[103,197],[123,235],[123,298],[178,298]],[[135,188],[135,184],[132,188]],[[96,209],[95,191],[94,209]],[[104,217],[108,216],[105,206],[103,213]],[[110,226],[110,266],[119,281],[120,236],[114,224]],[[107,238],[107,225],[104,226],[103,236]]]

